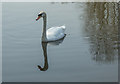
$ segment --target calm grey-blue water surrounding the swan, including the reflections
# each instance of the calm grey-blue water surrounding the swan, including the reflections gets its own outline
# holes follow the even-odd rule
[[[64,39],[41,43],[41,10]],[[116,3],[3,3],[3,81],[118,81],[117,17]]]

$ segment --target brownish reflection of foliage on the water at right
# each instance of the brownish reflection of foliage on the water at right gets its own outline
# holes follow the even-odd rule
[[[87,3],[86,32],[91,41],[93,60],[112,62],[118,53],[118,4]]]

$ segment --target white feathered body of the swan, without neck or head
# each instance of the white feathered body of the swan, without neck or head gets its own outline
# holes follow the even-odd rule
[[[47,41],[55,41],[65,36],[65,26],[51,27],[46,31]]]

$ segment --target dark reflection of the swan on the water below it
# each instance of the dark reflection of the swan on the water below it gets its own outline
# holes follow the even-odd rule
[[[43,54],[44,54],[44,66],[41,67],[38,65],[38,69],[41,71],[46,71],[48,69],[48,60],[47,60],[47,44],[48,45],[59,45],[63,42],[64,38],[54,41],[54,42],[42,42]]]

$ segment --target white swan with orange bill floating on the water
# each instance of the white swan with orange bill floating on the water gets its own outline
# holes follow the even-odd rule
[[[39,20],[41,17],[43,17],[42,42],[56,41],[64,38],[65,26],[52,27],[46,31],[46,19],[47,19],[46,13],[41,11],[38,14],[36,21]]]

